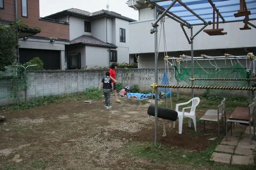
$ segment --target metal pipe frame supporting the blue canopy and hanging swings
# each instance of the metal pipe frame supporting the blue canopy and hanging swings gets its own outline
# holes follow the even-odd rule
[[[193,40],[195,38],[196,35],[198,35],[204,28],[206,28],[208,25],[213,24],[213,29],[215,29],[214,25],[215,25],[215,12],[217,12],[217,29],[218,29],[218,24],[219,24],[219,17],[221,17],[222,19],[222,23],[231,23],[231,22],[239,22],[239,21],[243,21],[245,23],[245,27],[248,28],[248,25],[250,25],[253,28],[256,28],[255,25],[253,25],[252,23],[249,23],[249,20],[256,20],[256,18],[254,19],[249,19],[248,15],[245,16],[244,20],[234,20],[234,21],[225,21],[225,18],[221,15],[221,13],[219,12],[219,10],[217,9],[217,7],[215,6],[214,3],[212,3],[212,0],[208,0],[208,2],[211,4],[212,8],[213,8],[213,22],[208,21],[206,22],[204,19],[202,19],[199,15],[197,15],[195,12],[193,12],[193,10],[191,10],[187,5],[185,5],[183,2],[181,2],[181,0],[172,0],[172,3],[169,5],[169,7],[167,7],[166,9],[161,7],[160,5],[156,4],[159,2],[163,2],[163,1],[169,1],[169,0],[145,0],[145,4],[149,4],[149,7],[151,7],[152,9],[154,8],[154,23],[152,23],[152,28],[150,30],[150,33],[153,34],[155,32],[157,32],[157,28],[158,28],[158,22],[162,19],[162,17],[170,17],[171,19],[177,21],[178,23],[181,24],[181,28],[188,40],[188,43],[191,44],[191,78],[193,79]],[[243,2],[242,2],[243,1]],[[198,19],[202,20],[203,23],[201,24],[189,24],[187,21],[181,19],[180,17],[178,17],[177,15],[175,15],[174,13],[170,12],[169,10],[173,7],[173,5],[175,3],[180,3],[184,8],[186,8],[189,12],[191,12],[194,16],[196,16]],[[241,5],[241,3],[245,6],[243,7],[243,5]],[[241,7],[242,6],[242,7]],[[246,9],[246,3],[245,0],[240,0],[240,12],[242,12],[243,9]],[[158,13],[161,13],[160,16],[158,16]],[[251,14],[251,13],[250,13]],[[236,16],[235,16],[236,17]],[[199,31],[197,31],[195,34],[193,34],[193,26],[194,25],[204,25]],[[187,32],[184,29],[184,26],[191,29],[191,37],[189,38],[187,35]],[[240,28],[241,29],[241,28]],[[223,29],[222,29],[223,31]],[[206,31],[205,31],[206,32]],[[225,35],[225,32],[221,32],[221,35]],[[209,34],[209,33],[208,33]],[[209,34],[210,35],[210,34]],[[155,33],[155,82],[158,82],[158,39],[157,39],[157,33]],[[252,69],[251,69],[252,72]],[[252,78],[252,74],[251,74],[251,78]],[[250,83],[251,86],[252,83]],[[193,86],[193,81],[192,84]],[[192,98],[194,96],[193,93],[193,88],[191,89],[192,92]],[[158,95],[158,89],[155,88],[155,96]],[[251,96],[252,96],[252,92],[250,93],[250,100],[251,100]],[[158,126],[158,101],[155,100],[155,146],[157,146],[157,126]]]

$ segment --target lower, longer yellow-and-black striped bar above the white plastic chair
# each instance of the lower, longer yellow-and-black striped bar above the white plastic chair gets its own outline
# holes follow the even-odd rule
[[[152,85],[151,85],[152,87]],[[211,89],[211,90],[252,90],[255,91],[256,87],[231,87],[231,86],[183,86],[183,85],[159,85],[155,84],[155,88],[197,88],[197,89]]]

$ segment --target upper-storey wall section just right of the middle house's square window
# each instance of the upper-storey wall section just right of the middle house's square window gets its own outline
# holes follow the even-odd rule
[[[109,19],[108,19],[109,22]],[[91,21],[91,35],[106,42],[106,18],[97,18]]]

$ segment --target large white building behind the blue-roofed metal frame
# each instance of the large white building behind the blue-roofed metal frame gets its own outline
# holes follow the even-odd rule
[[[154,34],[150,34],[150,29],[152,28],[151,23],[154,23],[154,9],[148,7],[144,4],[145,0],[128,0],[128,7],[136,9],[139,11],[139,21],[129,23],[129,34],[130,34],[130,46],[129,53],[131,57],[138,58],[138,68],[154,68]],[[225,11],[232,11],[234,13],[239,9],[239,1],[236,6],[227,5],[219,7],[218,2],[215,2],[219,11],[224,11],[222,15],[227,16]],[[248,0],[247,8],[251,11],[250,18],[256,18],[256,2],[253,0]],[[160,3],[159,3],[160,4]],[[193,14],[187,12],[184,7],[171,8],[171,11],[178,16],[188,16],[182,17],[183,19],[191,19]],[[169,6],[169,5],[167,5]],[[196,5],[193,8],[197,8]],[[191,8],[191,9],[193,9]],[[206,9],[204,9],[206,8]],[[231,9],[232,8],[232,9]],[[185,9],[185,10],[184,10]],[[212,9],[210,4],[207,7],[202,7],[204,10],[209,11],[209,15],[203,15],[203,18],[210,18],[206,21],[212,21]],[[200,12],[197,10],[195,12]],[[229,14],[230,15],[230,14]],[[190,18],[189,18],[190,17]],[[195,17],[196,18],[196,17]],[[239,19],[244,19],[240,17]],[[216,20],[215,20],[216,21]],[[220,19],[221,21],[221,19]],[[256,25],[256,21],[250,21],[252,24]],[[163,29],[160,36],[161,23],[158,23],[158,42],[159,45],[159,57],[158,57],[158,67],[164,68],[164,46],[163,46]],[[165,35],[167,44],[167,54],[172,57],[179,57],[182,54],[191,56],[191,45],[188,41],[180,27],[180,23],[165,17]],[[193,33],[199,31],[203,25],[193,26]],[[216,27],[216,25],[215,25]],[[225,53],[231,55],[247,55],[248,52],[256,53],[256,41],[252,40],[256,37],[256,29],[251,27],[250,30],[240,30],[239,28],[244,27],[244,23],[234,22],[219,24],[219,28],[224,28],[223,32],[227,32],[227,35],[222,36],[209,36],[205,32],[200,32],[194,39],[194,56],[200,56],[201,54],[209,56],[223,56]],[[188,37],[191,37],[191,30],[187,29]],[[208,25],[205,29],[212,29],[212,24]]]

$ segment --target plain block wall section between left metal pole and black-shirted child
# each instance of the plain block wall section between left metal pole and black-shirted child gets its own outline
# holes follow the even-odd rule
[[[31,72],[28,77],[27,98],[47,95],[78,94],[86,88],[98,87],[106,71],[68,70]]]

